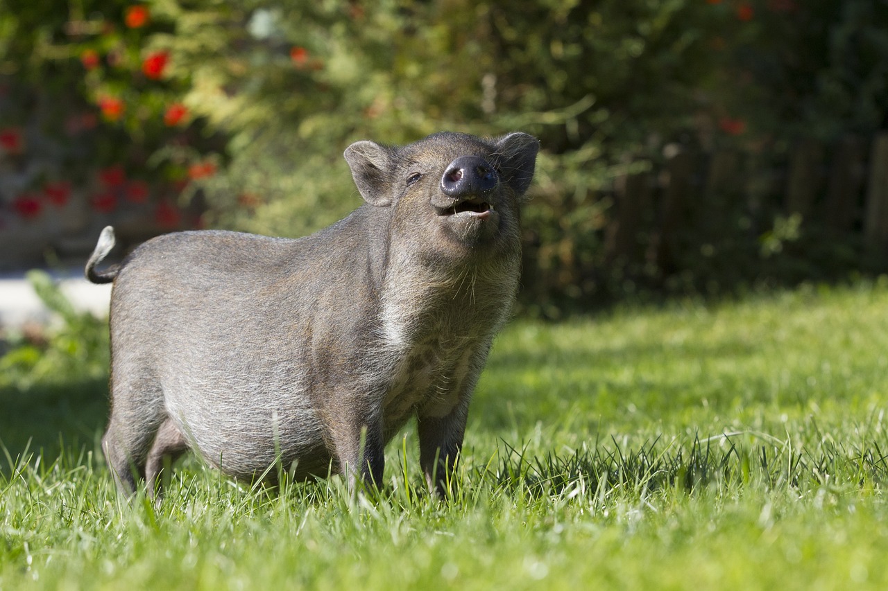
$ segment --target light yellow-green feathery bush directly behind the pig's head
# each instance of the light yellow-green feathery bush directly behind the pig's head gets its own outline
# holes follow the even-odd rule
[[[195,26],[183,58],[196,81],[189,103],[234,131],[231,174],[210,186],[233,206],[227,224],[300,234],[353,208],[340,154],[354,139],[523,129],[544,151],[532,232],[562,237],[546,240],[541,264],[568,274],[546,251],[595,256],[596,228],[583,218],[607,209],[597,192],[618,172],[614,163],[654,131],[686,129],[695,85],[715,67],[702,35],[686,32],[710,16],[683,2],[241,6],[218,25],[234,36],[225,50],[210,40],[218,28]],[[194,12],[179,22],[208,18]],[[292,48],[305,49],[305,63],[293,63]],[[234,208],[244,192],[268,205]],[[293,208],[299,215],[281,215]]]

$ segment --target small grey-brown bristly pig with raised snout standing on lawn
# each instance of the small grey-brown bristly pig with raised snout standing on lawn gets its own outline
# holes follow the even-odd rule
[[[188,450],[248,481],[283,466],[377,487],[385,444],[416,417],[424,478],[446,494],[518,291],[538,148],[521,132],[356,142],[365,202],[293,240],[173,232],[99,272],[105,228],[85,272],[114,283],[102,447],[120,493],[144,479],[159,499],[164,462]]]

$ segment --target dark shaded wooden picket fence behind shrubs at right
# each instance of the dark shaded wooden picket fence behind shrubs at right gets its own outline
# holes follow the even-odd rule
[[[751,213],[766,205],[798,214],[803,227],[836,238],[857,234],[869,255],[888,261],[888,131],[831,145],[799,141],[780,165],[732,150],[699,154],[670,146],[665,155],[661,168],[614,184],[614,215],[605,231],[608,260],[646,259],[667,268],[688,212],[741,200]]]

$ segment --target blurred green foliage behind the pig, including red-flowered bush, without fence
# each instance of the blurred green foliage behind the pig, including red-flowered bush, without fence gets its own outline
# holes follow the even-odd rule
[[[160,203],[204,195],[204,225],[296,236],[342,217],[360,203],[341,158],[356,139],[522,129],[543,146],[526,208],[531,311],[867,268],[854,238],[809,220],[789,240],[782,188],[742,189],[773,185],[753,165],[784,166],[799,138],[884,127],[878,0],[156,0],[139,27],[125,3],[4,2],[15,10],[0,11],[0,75],[16,92],[25,81],[105,113],[83,157],[123,161]],[[87,51],[98,65],[86,66]],[[123,114],[107,114],[108,97]],[[179,104],[187,116],[170,126],[166,109]],[[614,185],[659,170],[676,146],[700,154],[701,171],[703,154],[733,150],[751,162],[747,177],[686,212],[668,263],[614,261]],[[643,215],[650,249],[662,212],[654,203]]]

